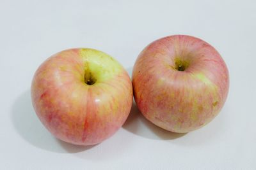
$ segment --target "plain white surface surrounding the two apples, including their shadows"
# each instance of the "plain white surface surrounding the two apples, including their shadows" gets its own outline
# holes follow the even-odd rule
[[[256,169],[255,1],[0,1],[0,169]],[[230,91],[220,115],[179,135],[134,106],[95,146],[54,138],[31,106],[37,67],[66,48],[115,57],[131,73],[148,43],[172,34],[204,39],[222,55]]]

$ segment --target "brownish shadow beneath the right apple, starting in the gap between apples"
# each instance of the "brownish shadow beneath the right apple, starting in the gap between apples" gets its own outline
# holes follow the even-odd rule
[[[184,136],[186,133],[179,134],[169,132],[149,122],[138,110],[135,102],[132,103],[132,108],[129,117],[127,118],[123,128],[133,134],[142,136],[148,139],[172,140]]]

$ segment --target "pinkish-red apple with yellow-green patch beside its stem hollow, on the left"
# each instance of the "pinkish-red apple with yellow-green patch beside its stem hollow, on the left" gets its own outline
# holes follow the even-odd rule
[[[36,115],[56,138],[95,145],[112,136],[127,119],[132,83],[108,54],[74,48],[52,55],[38,67],[31,99]]]

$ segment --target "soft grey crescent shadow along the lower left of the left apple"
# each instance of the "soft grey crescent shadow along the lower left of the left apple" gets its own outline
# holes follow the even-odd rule
[[[20,95],[13,103],[11,118],[17,133],[37,148],[50,152],[77,153],[95,146],[76,146],[54,138],[36,116],[29,90]]]

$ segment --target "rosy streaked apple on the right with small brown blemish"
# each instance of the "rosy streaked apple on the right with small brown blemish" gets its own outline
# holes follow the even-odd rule
[[[134,65],[132,86],[145,118],[168,131],[184,133],[218,115],[227,99],[229,76],[211,45],[175,35],[145,47]]]

